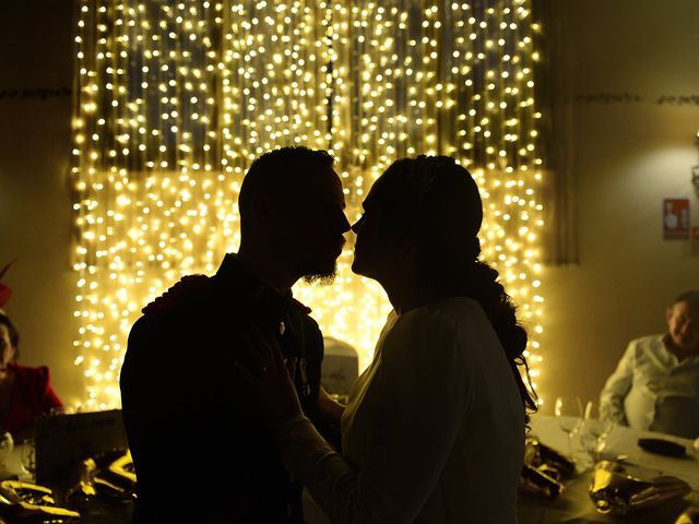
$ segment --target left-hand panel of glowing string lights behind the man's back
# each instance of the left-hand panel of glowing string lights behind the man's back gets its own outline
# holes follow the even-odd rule
[[[106,408],[144,301],[234,240],[239,180],[218,174],[221,5],[78,4],[75,364]]]

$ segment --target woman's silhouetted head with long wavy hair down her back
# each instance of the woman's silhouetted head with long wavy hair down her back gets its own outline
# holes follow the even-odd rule
[[[416,283],[446,296],[476,300],[485,311],[507,356],[522,403],[536,410],[524,349],[526,332],[498,272],[477,260],[476,235],[483,204],[476,182],[448,156],[418,156],[394,162],[374,183],[364,201],[352,269],[383,283],[412,258]]]

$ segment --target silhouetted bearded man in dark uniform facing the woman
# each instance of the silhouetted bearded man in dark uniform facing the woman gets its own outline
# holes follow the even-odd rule
[[[339,413],[320,388],[322,336],[292,297],[330,279],[350,229],[342,182],[323,151],[258,158],[239,194],[241,241],[212,277],[183,277],[143,309],[121,369],[123,420],[138,478],[133,522],[301,523],[301,486],[236,374],[251,325],[297,359],[296,386],[319,426]]]

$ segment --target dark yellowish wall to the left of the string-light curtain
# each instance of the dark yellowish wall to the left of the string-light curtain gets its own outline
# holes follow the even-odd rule
[[[4,2],[0,16],[0,264],[5,307],[21,332],[21,360],[48,365],[64,402],[82,394],[72,365],[74,324],[68,190],[72,95],[13,90],[72,87],[72,2]]]

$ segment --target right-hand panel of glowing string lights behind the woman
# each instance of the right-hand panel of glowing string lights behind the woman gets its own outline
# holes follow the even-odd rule
[[[398,157],[446,154],[467,167],[482,190],[483,259],[519,306],[535,386],[543,302],[537,32],[526,1],[333,7],[334,105],[345,116],[336,119],[334,153],[348,170],[351,209]]]

